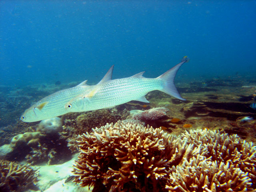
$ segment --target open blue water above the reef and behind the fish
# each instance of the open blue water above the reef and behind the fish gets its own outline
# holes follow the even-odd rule
[[[1,0],[0,85],[256,72],[256,1]]]

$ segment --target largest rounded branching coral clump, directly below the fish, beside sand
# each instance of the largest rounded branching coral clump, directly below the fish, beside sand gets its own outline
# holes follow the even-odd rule
[[[74,182],[94,191],[164,191],[166,169],[206,151],[160,128],[118,121],[78,136]]]

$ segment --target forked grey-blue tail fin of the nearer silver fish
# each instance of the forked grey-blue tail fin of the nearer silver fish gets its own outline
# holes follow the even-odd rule
[[[174,85],[174,78],[176,76],[177,71],[179,70],[180,66],[182,66],[182,64],[184,64],[185,62],[187,62],[189,60],[189,58],[187,56],[184,56],[182,58],[182,62],[180,62],[179,64],[177,64],[176,66],[174,66],[173,68],[169,69],[168,71],[166,71],[164,74],[160,75],[158,78],[162,79],[164,82],[164,86],[163,89],[160,90],[168,95],[171,95],[177,99],[180,100],[186,100],[184,98],[182,98],[177,90],[177,88]]]

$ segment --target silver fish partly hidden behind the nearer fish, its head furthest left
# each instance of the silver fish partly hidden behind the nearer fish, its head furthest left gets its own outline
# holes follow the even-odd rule
[[[104,78],[102,78],[99,83],[102,81],[108,81],[108,78],[111,78],[111,76],[112,72],[108,72],[108,76],[104,76]],[[87,85],[86,82],[87,80],[83,81],[75,87],[60,90],[41,99],[30,108],[25,110],[25,112],[20,117],[20,120],[23,122],[36,122],[68,113],[69,111],[64,107],[65,104],[72,98],[90,89],[91,86]]]

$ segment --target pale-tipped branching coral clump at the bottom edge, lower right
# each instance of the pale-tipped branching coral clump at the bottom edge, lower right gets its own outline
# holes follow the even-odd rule
[[[235,168],[230,160],[217,163],[197,155],[172,167],[166,189],[169,192],[255,192],[248,172]]]

